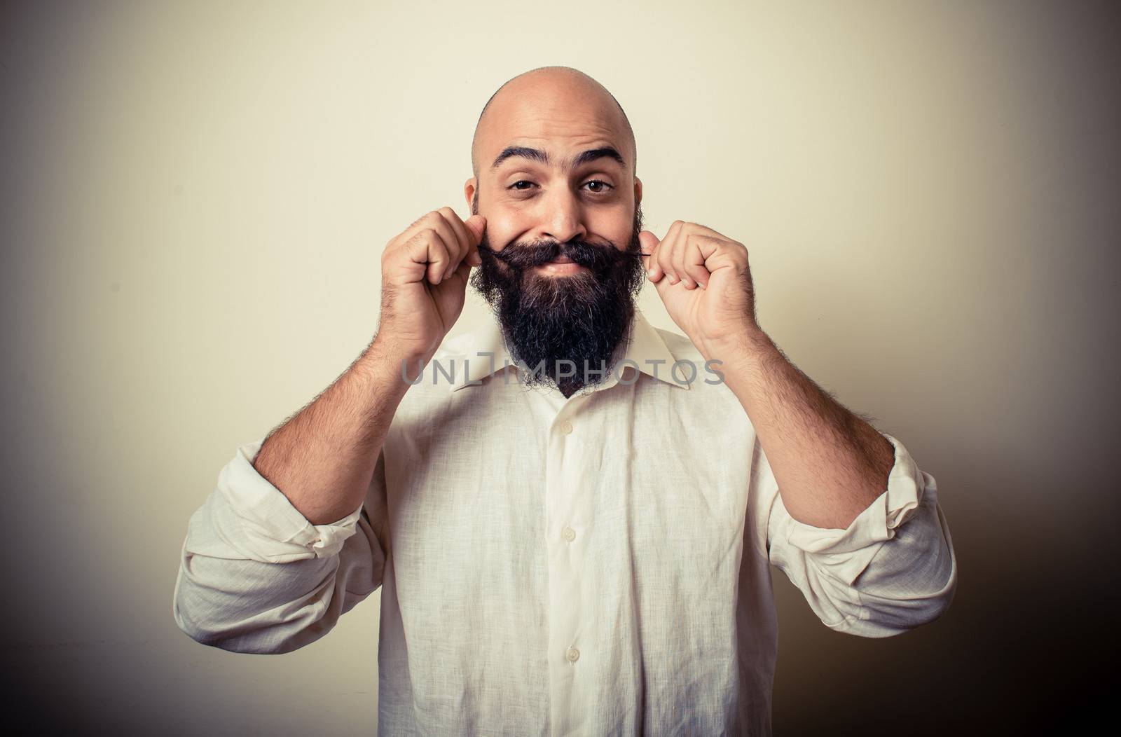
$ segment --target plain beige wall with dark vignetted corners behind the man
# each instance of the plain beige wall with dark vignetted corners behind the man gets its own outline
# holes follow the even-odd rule
[[[466,216],[483,103],[544,64],[626,108],[648,226],[747,244],[765,329],[937,478],[961,566],[937,622],[836,634],[776,571],[777,734],[1023,734],[1104,711],[1105,7],[6,4],[7,719],[373,733],[379,595],[299,652],[230,654],[173,622],[179,547],[235,447],[369,340],[383,244],[429,209]],[[471,299],[456,333],[485,309]],[[652,288],[641,306],[673,327]]]

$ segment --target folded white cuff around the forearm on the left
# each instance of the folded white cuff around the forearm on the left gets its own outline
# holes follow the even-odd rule
[[[312,524],[284,493],[253,467],[265,438],[238,448],[233,460],[219,474],[217,491],[242,522],[247,542],[262,558],[286,562],[337,553],[358,531],[363,504],[330,524]]]

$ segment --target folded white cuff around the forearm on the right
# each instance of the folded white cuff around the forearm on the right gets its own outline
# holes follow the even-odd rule
[[[925,489],[924,474],[907,448],[895,437],[881,432],[896,450],[896,463],[888,475],[888,488],[844,530],[815,528],[793,516],[787,541],[814,553],[837,578],[852,584],[868,567],[880,543],[896,537],[896,529],[915,515]]]

